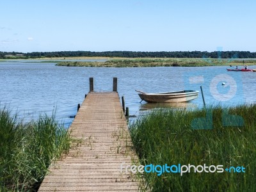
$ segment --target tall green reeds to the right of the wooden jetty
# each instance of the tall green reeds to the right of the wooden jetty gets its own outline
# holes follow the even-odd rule
[[[223,111],[243,117],[242,127]],[[213,129],[192,129],[196,118],[213,114]],[[154,111],[130,126],[140,163],[244,166],[245,173],[144,173],[152,191],[255,191],[256,190],[256,105],[236,108],[212,107],[196,111]],[[234,120],[234,119],[233,119]],[[207,122],[211,124],[211,121]]]

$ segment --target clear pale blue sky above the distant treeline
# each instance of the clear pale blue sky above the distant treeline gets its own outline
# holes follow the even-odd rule
[[[256,52],[256,1],[2,1],[0,51]]]

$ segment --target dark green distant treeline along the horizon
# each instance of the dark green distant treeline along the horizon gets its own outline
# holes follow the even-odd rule
[[[59,57],[122,57],[122,58],[256,58],[250,51],[56,51],[56,52],[1,52],[0,58],[59,58]]]

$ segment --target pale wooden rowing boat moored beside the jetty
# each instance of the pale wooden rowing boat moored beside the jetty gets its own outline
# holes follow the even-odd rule
[[[169,93],[139,93],[141,100],[147,102],[188,102],[198,98],[198,91],[184,90]]]

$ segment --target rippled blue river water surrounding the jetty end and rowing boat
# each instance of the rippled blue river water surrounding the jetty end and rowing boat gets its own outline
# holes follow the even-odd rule
[[[118,92],[125,97],[130,115],[159,106],[141,102],[135,90],[170,92],[199,90],[202,85],[206,104],[237,105],[256,102],[256,72],[227,72],[230,67],[56,67],[55,63],[0,62],[0,108],[6,106],[25,120],[39,114],[52,115],[68,127],[89,90],[94,77],[95,91],[113,88],[118,77]],[[250,68],[256,68],[255,66]],[[225,85],[222,85],[225,83]],[[180,108],[202,107],[202,95],[187,104],[169,104]]]

